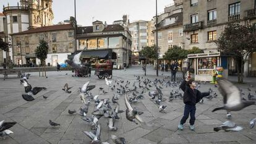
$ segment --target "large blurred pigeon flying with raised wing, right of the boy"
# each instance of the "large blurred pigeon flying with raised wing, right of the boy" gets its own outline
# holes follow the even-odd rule
[[[220,109],[226,109],[227,111],[240,111],[247,106],[255,104],[255,101],[242,101],[242,96],[239,89],[226,79],[218,80],[220,85],[219,91],[223,95],[224,106],[213,109],[212,112]]]

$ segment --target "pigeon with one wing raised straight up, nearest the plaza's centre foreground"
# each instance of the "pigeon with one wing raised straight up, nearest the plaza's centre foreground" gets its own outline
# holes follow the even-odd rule
[[[132,108],[132,106],[130,105],[130,103],[127,100],[127,96],[124,95],[124,101],[126,103],[126,118],[129,121],[135,122],[135,119],[137,119],[137,121],[139,121],[140,123],[145,123],[143,122],[143,120],[139,117],[140,114],[142,114],[143,112],[139,112],[135,109]],[[135,124],[138,124],[137,122],[135,122]]]

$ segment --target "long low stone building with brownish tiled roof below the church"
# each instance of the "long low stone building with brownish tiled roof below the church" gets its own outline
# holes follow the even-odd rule
[[[35,49],[40,40],[48,43],[49,51],[46,64],[56,66],[56,63],[64,63],[67,56],[74,53],[74,27],[66,25],[51,25],[13,33],[13,59],[14,64],[40,64],[35,56]]]

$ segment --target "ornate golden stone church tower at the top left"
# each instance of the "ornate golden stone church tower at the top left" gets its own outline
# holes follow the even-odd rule
[[[53,25],[52,0],[29,0],[29,28]]]

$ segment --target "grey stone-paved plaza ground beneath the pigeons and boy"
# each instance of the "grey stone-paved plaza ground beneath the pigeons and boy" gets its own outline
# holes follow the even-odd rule
[[[94,71],[92,71],[93,74]],[[156,78],[155,70],[148,70],[147,78],[153,80]],[[100,80],[95,75],[87,78],[72,77],[72,72],[47,72],[48,78],[38,77],[38,73],[32,73],[29,78],[29,83],[32,87],[46,87],[35,95],[35,100],[27,102],[22,99],[22,94],[25,93],[23,85],[20,85],[19,78],[11,75],[6,80],[3,76],[0,77],[0,121],[5,120],[17,122],[12,130],[10,137],[0,139],[1,144],[6,143],[90,143],[90,139],[83,133],[84,130],[92,131],[90,125],[81,119],[79,114],[70,115],[68,109],[79,109],[82,106],[79,93],[79,87],[90,80],[90,85],[96,85],[92,90],[93,95],[99,95],[99,98],[112,98],[114,91],[108,90],[105,80]],[[67,75],[66,75],[67,74]],[[163,74],[163,75],[161,75]],[[113,80],[122,78],[125,81],[129,80],[133,83],[134,75],[143,75],[141,67],[130,67],[126,71],[113,70]],[[164,78],[170,75],[170,72],[161,72],[160,77]],[[180,76],[179,76],[180,77]],[[144,77],[145,78],[145,77]],[[231,77],[236,80],[236,77]],[[255,95],[256,80],[255,78],[247,78],[246,84],[238,85],[245,92],[244,97],[247,99],[250,84],[252,95]],[[137,81],[136,81],[137,82]],[[61,88],[65,83],[69,86],[74,86],[72,93],[65,93]],[[139,83],[136,83],[138,85]],[[108,94],[100,93],[99,87],[105,88]],[[132,84],[130,84],[132,88]],[[219,132],[213,131],[216,127],[226,121],[226,111],[211,112],[223,104],[222,96],[214,85],[207,83],[201,85],[199,90],[208,91],[211,87],[214,92],[218,93],[217,98],[206,100],[203,104],[197,104],[195,131],[189,130],[188,121],[185,124],[184,130],[177,130],[177,125],[184,111],[184,103],[182,100],[174,99],[168,102],[170,87],[163,88],[164,101],[162,104],[168,106],[166,114],[160,113],[158,105],[149,100],[148,90],[144,93],[144,99],[139,103],[132,104],[133,107],[143,111],[141,115],[143,121],[153,125],[147,127],[145,125],[136,125],[134,122],[127,121],[126,114],[120,114],[120,119],[116,120],[118,130],[116,132],[108,131],[107,119],[101,117],[101,140],[104,142],[113,143],[109,140],[111,134],[119,135],[126,138],[127,143],[133,144],[155,144],[155,143],[256,143],[256,128],[249,128],[249,121],[256,117],[256,106],[249,106],[242,111],[232,112],[232,121],[237,125],[244,127],[241,132]],[[153,87],[151,87],[153,89]],[[153,89],[155,90],[155,89]],[[49,96],[44,100],[42,95]],[[119,98],[121,110],[126,110],[124,104],[124,96]],[[89,106],[88,115],[93,111],[94,103]],[[60,127],[53,128],[49,125],[49,119],[61,124]]]

